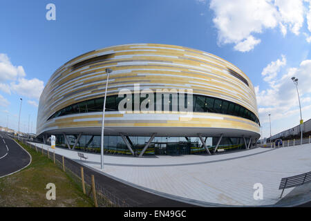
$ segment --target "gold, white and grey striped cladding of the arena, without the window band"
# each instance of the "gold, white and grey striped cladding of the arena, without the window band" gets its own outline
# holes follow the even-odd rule
[[[100,128],[100,113],[47,119],[71,104],[103,97],[106,86],[105,68],[113,69],[109,77],[108,96],[117,95],[122,88],[133,90],[133,84],[140,84],[141,90],[191,88],[197,95],[218,97],[240,104],[258,117],[252,82],[245,73],[228,61],[207,52],[181,46],[128,44],[87,52],[58,68],[50,77],[39,100],[37,135],[48,133],[51,129]],[[229,69],[241,75],[248,86],[238,77],[234,77]],[[189,121],[180,120],[180,117],[172,118],[171,113],[158,114],[161,120],[155,116],[149,118],[148,115],[137,113],[126,113],[110,119],[109,115],[115,114],[107,113],[106,127],[147,127],[150,131],[153,127],[210,127],[252,131],[254,134],[259,134],[260,131],[258,124],[248,119],[215,113],[194,113],[194,119]],[[211,116],[220,116],[221,119],[210,119]]]

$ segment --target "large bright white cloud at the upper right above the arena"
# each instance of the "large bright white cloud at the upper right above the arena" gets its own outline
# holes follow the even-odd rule
[[[283,36],[288,29],[299,35],[305,16],[303,0],[211,0],[209,8],[215,13],[218,44],[234,44],[241,52],[259,44],[254,34],[267,28],[279,26]],[[307,20],[311,31],[311,8]]]

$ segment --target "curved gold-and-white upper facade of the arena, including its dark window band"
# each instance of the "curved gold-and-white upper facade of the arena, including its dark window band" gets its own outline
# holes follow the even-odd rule
[[[106,98],[104,133],[107,136],[185,137],[185,142],[187,137],[198,137],[198,134],[222,135],[228,139],[260,137],[254,86],[245,73],[207,52],[162,44],[128,44],[93,50],[58,68],[39,100],[37,135],[100,135],[106,68],[113,70]],[[137,88],[138,84],[137,93],[134,86]],[[131,90],[133,100],[144,89],[191,90],[193,113],[189,118],[180,108],[173,111],[174,104],[170,104],[169,111],[163,108],[156,111],[161,99],[157,95],[153,110],[133,108],[120,112],[118,105],[122,97],[118,93],[122,89]],[[177,97],[180,102],[180,93]],[[130,146],[135,146],[134,143]],[[214,143],[209,146],[215,146]]]

